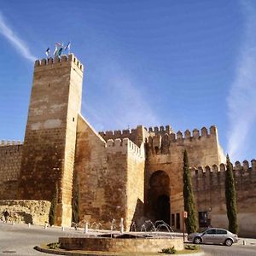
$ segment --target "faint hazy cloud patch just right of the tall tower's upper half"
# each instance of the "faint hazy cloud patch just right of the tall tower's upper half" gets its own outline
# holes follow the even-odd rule
[[[135,75],[113,60],[106,63],[101,63],[102,67],[97,69],[99,73],[90,81],[98,87],[93,95],[94,100],[85,96],[83,102],[84,115],[96,130],[159,125],[154,108],[149,103],[150,97],[146,91],[140,90]]]

